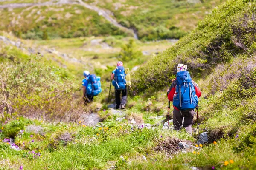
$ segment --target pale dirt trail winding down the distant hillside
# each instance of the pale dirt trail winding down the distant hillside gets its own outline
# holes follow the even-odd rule
[[[126,28],[119,24],[113,17],[111,17],[111,12],[105,9],[100,9],[97,6],[92,6],[90,4],[84,3],[82,0],[58,0],[58,1],[48,1],[44,3],[9,3],[5,5],[0,5],[0,9],[3,8],[24,8],[29,6],[52,6],[52,5],[63,5],[63,4],[79,4],[81,6],[84,6],[85,8],[88,8],[90,10],[96,11],[99,15],[104,17],[106,20],[108,20],[110,23],[112,23],[114,26],[120,28],[122,31],[133,35],[135,39],[138,39],[138,36],[136,34],[136,31],[133,29]]]

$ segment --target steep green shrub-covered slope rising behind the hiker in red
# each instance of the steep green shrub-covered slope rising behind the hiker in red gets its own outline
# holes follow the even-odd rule
[[[241,54],[250,57],[256,45],[254,4],[229,0],[216,8],[191,34],[141,67],[134,84],[139,91],[155,91],[170,84],[180,62],[188,65],[193,77],[200,77],[203,71]]]

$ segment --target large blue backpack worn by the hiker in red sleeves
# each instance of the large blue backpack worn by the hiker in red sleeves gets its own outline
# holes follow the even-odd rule
[[[176,74],[176,93],[173,96],[173,105],[180,111],[192,111],[198,104],[198,96],[188,71]]]

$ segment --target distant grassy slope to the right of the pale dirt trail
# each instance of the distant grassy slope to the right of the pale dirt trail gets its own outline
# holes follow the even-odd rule
[[[192,31],[198,20],[224,0],[113,0],[99,3],[90,0],[114,13],[125,27],[135,28],[142,40],[180,38]]]

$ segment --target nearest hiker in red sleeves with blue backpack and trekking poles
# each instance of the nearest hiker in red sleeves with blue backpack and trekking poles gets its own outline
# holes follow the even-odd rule
[[[192,123],[195,115],[195,108],[198,107],[198,98],[201,91],[198,85],[192,80],[187,66],[179,64],[175,80],[167,90],[169,102],[173,102],[173,125],[175,130],[180,130],[184,117],[183,127],[186,132],[192,135]]]

